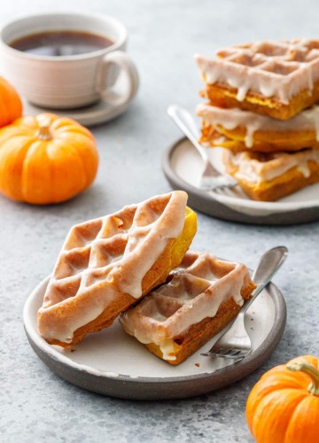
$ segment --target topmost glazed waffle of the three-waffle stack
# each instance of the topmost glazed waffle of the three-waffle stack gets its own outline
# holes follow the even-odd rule
[[[214,105],[288,120],[319,99],[319,40],[242,44],[196,61]]]

